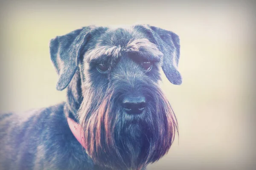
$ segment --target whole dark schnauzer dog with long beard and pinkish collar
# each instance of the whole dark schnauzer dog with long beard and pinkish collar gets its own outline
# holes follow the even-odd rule
[[[162,69],[182,83],[177,34],[87,26],[49,48],[67,102],[0,116],[1,170],[145,170],[168,152],[177,120],[159,82]]]

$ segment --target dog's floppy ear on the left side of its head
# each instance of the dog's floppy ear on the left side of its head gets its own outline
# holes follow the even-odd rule
[[[62,91],[72,80],[78,68],[78,59],[87,41],[90,27],[84,27],[50,41],[50,55],[59,78],[56,85]]]

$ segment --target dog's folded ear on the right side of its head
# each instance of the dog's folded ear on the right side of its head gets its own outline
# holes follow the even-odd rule
[[[180,38],[172,31],[149,26],[153,30],[153,36],[160,50],[163,52],[163,72],[172,84],[180,85],[182,77],[178,71],[180,58]]]

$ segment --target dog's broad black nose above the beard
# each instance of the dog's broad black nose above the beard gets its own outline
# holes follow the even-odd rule
[[[129,114],[139,114],[146,107],[146,99],[143,96],[127,96],[123,100],[122,106]]]

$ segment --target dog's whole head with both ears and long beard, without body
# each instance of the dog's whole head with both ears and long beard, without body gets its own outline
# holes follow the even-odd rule
[[[50,42],[57,89],[68,86],[95,164],[137,170],[168,152],[177,122],[158,83],[163,69],[181,84],[179,50],[176,34],[146,25],[84,27]]]

